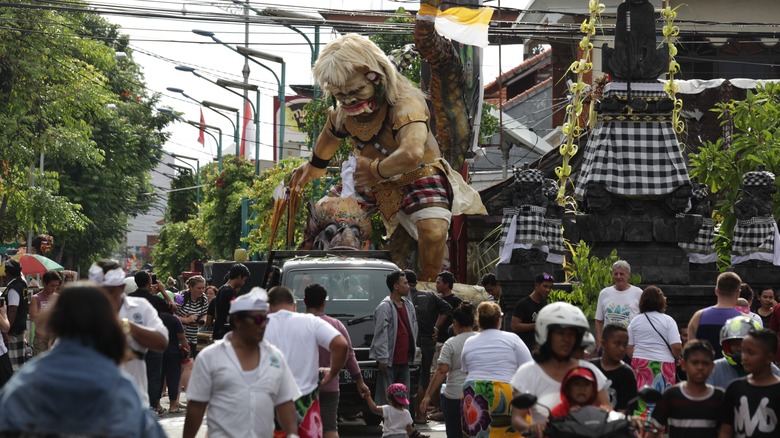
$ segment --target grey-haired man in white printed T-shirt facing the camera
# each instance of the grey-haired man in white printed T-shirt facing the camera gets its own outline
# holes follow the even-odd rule
[[[642,289],[628,284],[631,277],[631,265],[625,260],[618,260],[612,265],[612,280],[614,286],[605,287],[599,292],[596,305],[596,345],[601,345],[601,331],[605,324],[617,324],[628,327],[628,324],[639,314],[639,298]]]

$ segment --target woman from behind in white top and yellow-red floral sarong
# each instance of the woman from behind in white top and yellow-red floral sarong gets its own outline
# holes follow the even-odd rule
[[[461,402],[464,436],[520,436],[508,432],[512,400],[509,382],[517,367],[531,360],[531,353],[517,335],[500,330],[502,316],[495,302],[480,304],[480,332],[463,346],[461,367],[468,374]]]

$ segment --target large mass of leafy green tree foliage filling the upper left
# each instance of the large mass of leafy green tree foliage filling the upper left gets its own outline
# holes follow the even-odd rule
[[[156,202],[149,173],[160,160],[168,120],[153,115],[157,97],[144,92],[118,26],[91,13],[43,9],[4,8],[0,17],[0,150],[7,170],[0,180],[1,227],[54,234],[57,258],[85,267],[117,247],[129,216]],[[116,51],[128,57],[118,60]],[[41,154],[46,172],[36,169],[30,187]]]

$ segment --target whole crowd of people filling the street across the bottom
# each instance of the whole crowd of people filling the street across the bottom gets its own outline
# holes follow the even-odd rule
[[[475,305],[453,292],[449,272],[439,273],[432,292],[416,288],[413,271],[395,271],[373,315],[377,378],[369,388],[317,283],[306,286],[299,313],[284,286],[241,295],[250,272],[240,263],[218,289],[194,276],[174,292],[149,272],[126,277],[115,262],[100,261],[89,282],[64,288],[47,272],[32,297],[19,263],[4,267],[3,436],[165,436],[157,416],[166,414],[167,396],[168,412],[186,412],[185,437],[206,416],[214,437],[336,438],[344,368],[367,410],[381,416],[384,437],[424,437],[416,425],[430,420],[444,421],[448,438],[542,437],[550,421],[588,405],[641,418],[643,436],[780,436],[780,307],[767,289],[752,312],[753,290],[731,272],[718,276],[714,304],[680,326],[665,313],[663,291],[630,285],[631,267],[618,261],[591,333],[579,308],[547,303],[548,274],[505,319],[493,274],[482,279],[488,298]],[[206,327],[214,342],[199,352]],[[412,393],[417,348],[420,384]],[[658,403],[637,401],[646,386],[662,392]],[[535,404],[513,407],[524,393]]]

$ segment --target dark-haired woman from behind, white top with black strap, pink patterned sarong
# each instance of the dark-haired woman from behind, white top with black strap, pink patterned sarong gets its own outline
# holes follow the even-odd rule
[[[677,383],[675,369],[682,353],[677,322],[666,311],[666,297],[648,286],[639,299],[639,315],[628,325],[628,355],[636,386],[650,385],[663,392]]]

